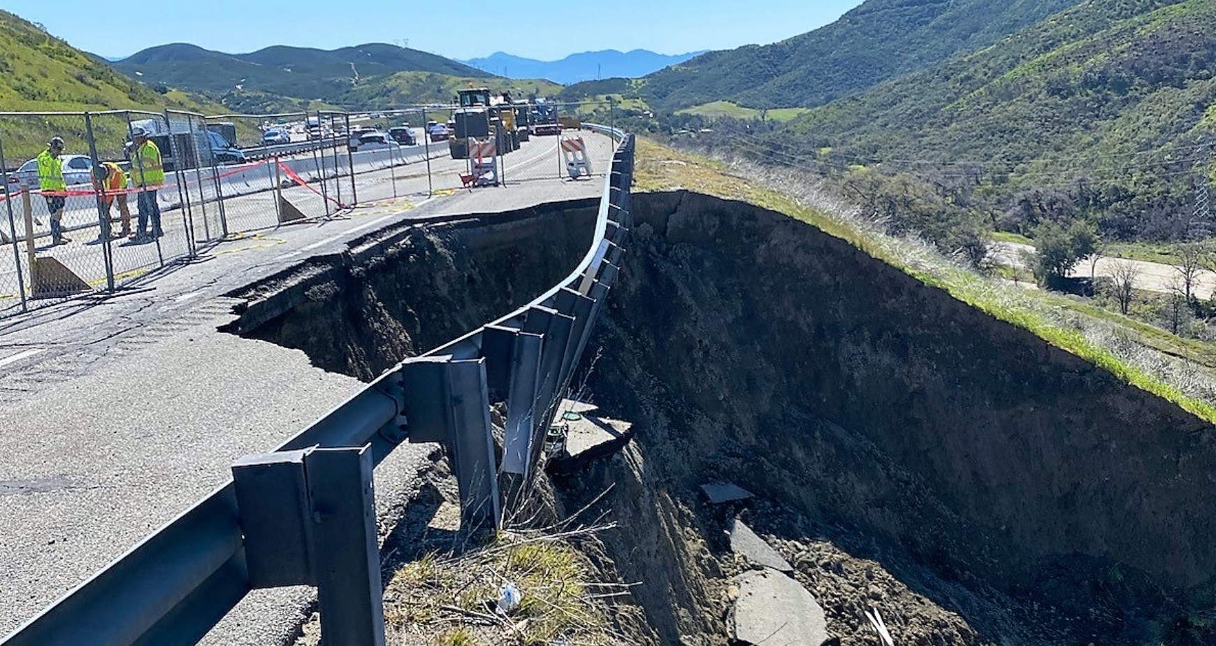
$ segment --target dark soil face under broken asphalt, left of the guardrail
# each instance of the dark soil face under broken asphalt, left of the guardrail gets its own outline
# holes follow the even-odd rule
[[[237,296],[231,330],[371,381],[474,330],[567,276],[591,245],[598,201],[545,204],[377,232]]]

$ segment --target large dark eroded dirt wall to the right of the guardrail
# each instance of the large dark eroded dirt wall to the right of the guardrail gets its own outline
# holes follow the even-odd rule
[[[1212,639],[1211,425],[786,215],[675,192],[634,217],[591,388],[642,427],[602,482],[638,523],[623,577],[669,579],[637,592],[669,642],[720,619],[715,479],[767,501],[747,513],[821,599],[884,603],[844,599],[827,545],[972,627],[925,644]]]

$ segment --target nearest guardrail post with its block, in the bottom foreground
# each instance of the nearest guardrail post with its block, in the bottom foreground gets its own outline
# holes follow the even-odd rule
[[[249,586],[315,585],[326,645],[384,646],[372,468],[371,445],[232,466]]]

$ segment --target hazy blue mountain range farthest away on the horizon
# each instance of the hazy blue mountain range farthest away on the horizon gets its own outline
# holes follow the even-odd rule
[[[500,77],[516,79],[548,79],[569,85],[580,80],[604,78],[644,77],[664,67],[682,63],[704,54],[703,51],[669,56],[647,50],[632,51],[586,51],[572,54],[561,61],[536,61],[505,52],[495,52],[484,58],[461,61],[465,64],[491,72]]]

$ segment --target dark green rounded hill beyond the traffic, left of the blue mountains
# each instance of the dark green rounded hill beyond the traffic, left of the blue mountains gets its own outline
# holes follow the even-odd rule
[[[274,46],[236,55],[174,44],[150,47],[114,66],[150,83],[208,92],[241,111],[300,109],[309,101],[349,105],[368,94],[388,92],[382,85],[394,85],[385,79],[399,73],[428,79],[494,78],[441,56],[378,44],[333,51]]]

